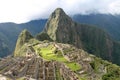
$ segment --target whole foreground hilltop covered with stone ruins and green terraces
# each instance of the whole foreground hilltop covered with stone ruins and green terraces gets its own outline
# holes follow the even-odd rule
[[[23,34],[24,33],[24,34]],[[28,31],[22,31],[22,36]],[[6,79],[24,80],[119,80],[120,67],[70,44],[18,38],[19,53],[1,60],[0,73]],[[4,62],[5,61],[5,62]],[[10,67],[6,67],[9,65]],[[15,66],[16,65],[16,66]],[[22,66],[21,66],[22,65]],[[4,67],[4,68],[3,68]],[[12,67],[12,68],[11,68]],[[4,76],[3,76],[4,75]]]

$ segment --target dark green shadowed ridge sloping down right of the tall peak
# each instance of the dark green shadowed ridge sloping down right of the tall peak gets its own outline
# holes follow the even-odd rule
[[[80,26],[81,28],[78,36],[81,38],[84,50],[96,55],[97,57],[110,60],[108,53],[111,51],[112,41],[109,35],[104,30],[97,28],[96,26],[80,24],[78,27]]]

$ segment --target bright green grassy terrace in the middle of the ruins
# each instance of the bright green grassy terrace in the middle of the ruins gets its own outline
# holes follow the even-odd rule
[[[64,58],[60,50],[57,50],[53,45],[48,45],[47,47],[34,46],[36,52],[46,60],[56,60],[66,64],[72,71],[77,71],[80,69],[80,65],[75,62],[69,62]]]

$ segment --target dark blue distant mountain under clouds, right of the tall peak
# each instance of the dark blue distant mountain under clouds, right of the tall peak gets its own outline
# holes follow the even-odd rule
[[[120,41],[120,15],[111,14],[89,14],[74,15],[73,20],[79,23],[96,25],[109,33],[109,35]]]

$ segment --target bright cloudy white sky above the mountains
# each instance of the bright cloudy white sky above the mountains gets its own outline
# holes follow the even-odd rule
[[[120,0],[0,0],[0,23],[48,18],[58,7],[68,15],[120,14]]]

